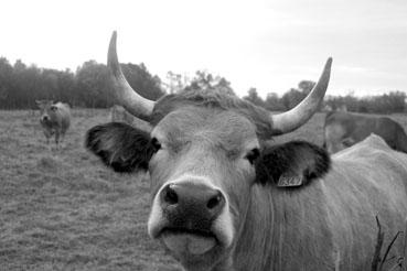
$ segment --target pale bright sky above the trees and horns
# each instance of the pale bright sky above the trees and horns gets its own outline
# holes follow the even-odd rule
[[[328,95],[407,91],[406,0],[0,0],[0,56],[76,71],[106,63],[114,30],[122,63],[225,77],[238,96],[318,80]]]

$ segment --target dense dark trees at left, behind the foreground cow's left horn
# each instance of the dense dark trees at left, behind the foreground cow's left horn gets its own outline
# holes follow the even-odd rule
[[[164,91],[161,80],[141,63],[121,64],[131,87],[146,98],[156,100]],[[72,107],[107,108],[113,106],[108,71],[105,64],[85,62],[75,72],[40,68],[17,61],[13,65],[0,58],[0,109],[35,108],[35,100],[64,101]]]

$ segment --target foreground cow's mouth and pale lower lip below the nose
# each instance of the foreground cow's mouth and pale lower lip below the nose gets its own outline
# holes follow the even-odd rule
[[[164,228],[160,238],[169,250],[179,256],[202,256],[219,245],[216,235],[206,230]]]

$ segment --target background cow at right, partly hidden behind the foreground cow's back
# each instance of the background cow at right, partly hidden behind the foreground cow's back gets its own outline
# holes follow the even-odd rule
[[[403,127],[388,117],[331,111],[326,113],[323,130],[324,147],[330,153],[351,147],[371,133],[382,137],[394,150],[407,153],[407,136]]]

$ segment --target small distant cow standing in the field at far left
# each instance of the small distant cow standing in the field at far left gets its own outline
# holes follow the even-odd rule
[[[43,128],[46,143],[50,143],[50,138],[55,136],[55,144],[63,141],[66,130],[71,124],[71,110],[67,104],[56,102],[52,100],[35,100],[41,110],[40,123]]]

